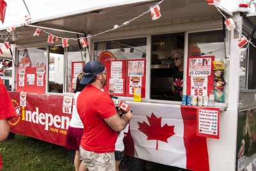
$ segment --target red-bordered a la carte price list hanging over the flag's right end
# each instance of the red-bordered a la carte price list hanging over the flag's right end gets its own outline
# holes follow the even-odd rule
[[[196,135],[207,138],[220,138],[220,109],[198,107],[196,112]]]

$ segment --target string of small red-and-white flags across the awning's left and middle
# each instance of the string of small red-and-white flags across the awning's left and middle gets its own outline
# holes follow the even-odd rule
[[[48,43],[54,43],[54,41],[59,41],[61,39],[62,41],[62,46],[63,47],[68,47],[68,40],[79,40],[81,46],[83,48],[85,47],[88,47],[88,41],[86,40],[86,38],[90,38],[90,37],[93,37],[93,36],[98,36],[99,34],[104,34],[104,33],[108,33],[109,31],[113,31],[113,30],[116,30],[122,26],[127,26],[128,24],[130,24],[130,22],[132,22],[133,20],[135,19],[138,19],[139,17],[142,17],[143,15],[145,15],[146,13],[150,12],[151,13],[151,17],[152,17],[152,20],[157,20],[161,17],[161,13],[160,13],[160,7],[159,7],[159,4],[163,3],[164,0],[160,1],[159,3],[156,3],[154,4],[153,6],[150,6],[150,10],[147,10],[145,11],[144,13],[142,13],[141,15],[139,15],[138,17],[134,17],[133,19],[129,20],[129,21],[126,21],[124,22],[121,26],[118,26],[117,24],[112,28],[112,29],[109,29],[107,31],[104,31],[102,33],[98,33],[98,34],[94,34],[94,35],[90,35],[90,36],[86,36],[86,37],[81,37],[81,38],[63,38],[63,37],[60,37],[60,36],[56,36],[54,34],[51,34],[47,31],[45,31],[44,29],[41,29],[40,27],[37,27],[36,30],[35,30],[35,33],[33,34],[33,36],[40,36],[40,34],[42,32],[44,33],[47,33],[49,34],[48,35],[48,39],[47,39],[47,42]],[[31,21],[31,17],[29,15],[26,15],[25,16],[25,22],[28,22],[28,21]],[[12,31],[15,30],[15,27],[14,26],[10,26],[10,27],[7,27],[6,30],[11,33]],[[6,40],[8,40],[8,38],[6,38]],[[6,44],[6,45],[5,45]],[[4,46],[6,48],[8,48],[7,45],[10,45],[10,43],[8,43],[8,41],[6,41],[4,43]],[[1,48],[0,48],[1,50]],[[0,51],[1,53],[1,51]]]

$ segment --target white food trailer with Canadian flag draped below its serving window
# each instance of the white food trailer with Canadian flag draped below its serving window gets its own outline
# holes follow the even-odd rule
[[[40,10],[31,3],[32,1],[25,2],[31,21],[26,24],[15,24],[15,31],[10,34],[8,40],[15,44],[15,65],[13,65],[10,94],[17,103],[20,102],[20,96],[17,94],[21,91],[27,93],[27,100],[30,96],[33,96],[33,100],[42,99],[40,96],[47,96],[49,98],[48,101],[45,100],[47,105],[52,103],[51,96],[54,96],[54,98],[60,97],[62,103],[63,97],[73,96],[72,88],[75,86],[73,80],[76,79],[76,74],[81,72],[83,63],[92,60],[108,61],[106,64],[110,66],[109,87],[116,86],[118,89],[119,86],[116,93],[118,98],[131,105],[134,114],[130,123],[130,139],[127,142],[132,147],[127,147],[125,144],[130,156],[189,170],[243,170],[244,168],[255,170],[256,13],[254,1],[222,0],[220,3],[212,1],[213,4],[211,4],[211,1],[205,0],[119,0],[115,3],[106,1],[84,3],[76,0],[70,6],[62,1],[52,2],[51,6],[45,3],[45,7]],[[157,3],[161,13],[159,19],[152,20],[150,11],[143,14],[150,10],[150,6]],[[62,10],[56,10],[57,6]],[[42,11],[46,12],[42,13]],[[8,26],[12,25],[7,19]],[[232,19],[236,28],[229,31],[225,25],[226,19]],[[3,36],[8,34],[5,31],[5,27],[8,26],[4,25],[0,34]],[[42,33],[40,36],[33,36],[37,28],[41,29]],[[54,39],[53,43],[48,43],[49,35],[55,36],[58,41]],[[88,47],[81,47],[81,43],[77,40],[81,37],[87,38]],[[61,40],[65,38],[68,39],[68,47],[63,47]],[[241,38],[250,40],[250,43],[239,47]],[[195,77],[189,73],[192,71],[190,59],[210,60],[211,70],[209,71],[212,73],[208,75],[209,77],[203,77],[205,90],[202,89],[202,92],[206,92],[204,96],[209,96],[208,92],[215,89],[212,61],[223,61],[225,64],[225,72],[223,71],[225,88],[223,85],[221,91],[225,92],[223,96],[225,101],[214,102],[214,108],[220,110],[218,138],[197,136],[196,123],[190,122],[196,121],[198,106],[184,106],[182,101],[174,101],[173,49],[184,50],[181,82],[184,95],[198,95],[193,90]],[[115,75],[111,69],[117,64],[113,63],[115,61],[120,62],[117,68],[122,72],[118,81],[111,80],[112,77],[110,77]],[[30,63],[32,69],[22,70],[26,68],[24,66],[26,63]],[[40,72],[35,69],[33,76],[33,67],[40,68],[40,63],[44,63],[42,79],[44,85],[38,88],[39,83],[36,79],[39,79]],[[132,70],[132,64],[141,64],[138,70],[143,77],[139,77],[139,84],[134,82],[138,79],[138,75],[135,74],[136,78],[133,78],[127,74]],[[22,78],[24,76],[22,74],[25,74],[22,71],[27,72],[25,79]],[[201,74],[199,76],[202,77]],[[134,89],[132,89],[134,86],[141,87],[141,102],[134,102]],[[113,92],[115,94],[114,90],[108,93]],[[61,109],[62,107],[63,105],[60,106]],[[38,107],[32,106],[22,107],[18,113],[23,112],[22,114],[27,115],[29,112],[26,108],[29,108],[30,113],[33,111],[40,113],[40,108],[38,112]],[[49,113],[54,115],[50,108],[49,110]],[[186,111],[191,114],[189,117],[184,115]],[[39,123],[44,120],[42,115],[40,118]],[[52,116],[52,119],[54,118],[57,117]],[[29,133],[15,128],[21,121],[38,123],[36,121],[33,123],[33,119],[29,121],[25,117],[20,121],[11,121],[13,132],[28,136]],[[152,126],[154,122],[160,122],[160,128],[167,126],[167,130],[173,129],[173,134],[168,130],[168,136],[165,139],[163,136],[157,137],[164,134],[166,130],[157,130]],[[53,121],[54,124],[46,121],[42,123],[45,124],[44,131],[51,131],[47,124],[52,129],[58,128],[58,118]],[[145,128],[147,126],[148,128]],[[67,126],[61,124],[60,127],[67,130]],[[155,137],[152,135],[153,138],[150,138],[150,133],[154,134],[154,131],[157,135],[154,135]],[[188,132],[192,132],[195,139],[186,137]],[[30,136],[42,139],[40,136]],[[63,136],[65,138],[65,134]],[[47,141],[51,142],[51,140]],[[52,143],[63,145],[62,142]],[[137,162],[137,165],[134,163],[133,170],[140,170],[141,167],[138,165],[141,163]]]

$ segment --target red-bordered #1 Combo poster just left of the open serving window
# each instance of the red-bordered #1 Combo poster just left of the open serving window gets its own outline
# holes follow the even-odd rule
[[[145,98],[146,85],[146,60],[134,59],[127,60],[127,77],[126,77],[126,93],[125,96],[134,96],[134,87],[141,88],[141,98]]]

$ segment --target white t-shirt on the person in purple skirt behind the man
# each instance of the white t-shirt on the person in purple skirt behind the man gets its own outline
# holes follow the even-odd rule
[[[77,97],[79,93],[81,92],[77,91],[77,93],[74,95],[74,98],[73,98],[73,112],[72,112],[72,118],[69,123],[69,125],[73,128],[84,128],[84,125],[77,113],[77,108],[76,108],[76,102],[77,102]]]

